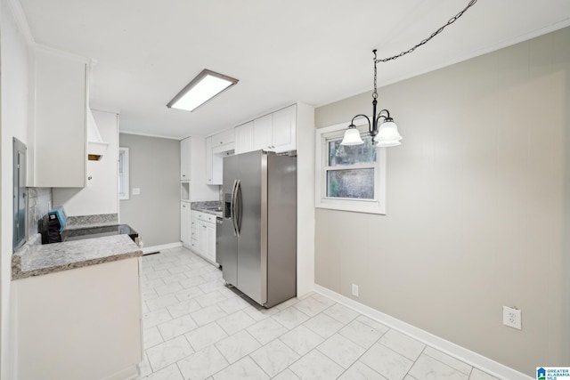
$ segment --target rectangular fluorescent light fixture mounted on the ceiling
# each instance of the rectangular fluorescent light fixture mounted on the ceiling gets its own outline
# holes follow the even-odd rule
[[[236,83],[238,79],[203,69],[172,101],[168,102],[167,107],[193,111]]]

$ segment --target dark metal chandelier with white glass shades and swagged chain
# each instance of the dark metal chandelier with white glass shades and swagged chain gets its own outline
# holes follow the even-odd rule
[[[419,44],[416,44],[415,46],[411,47],[411,49],[405,50],[402,53],[399,53],[392,57],[380,60],[376,57],[376,52],[377,52],[376,49],[372,51],[372,53],[374,53],[374,92],[372,93],[372,120],[370,119],[370,117],[367,117],[364,114],[358,114],[355,117],[353,117],[352,121],[350,122],[350,125],[348,125],[348,129],[345,132],[344,138],[340,142],[340,145],[361,145],[364,143],[364,141],[362,141],[362,138],[360,136],[360,131],[356,129],[356,125],[354,125],[354,120],[357,117],[366,118],[366,120],[368,121],[368,132],[372,136],[372,139],[377,142],[376,144],[377,147],[387,148],[387,147],[395,147],[401,144],[400,141],[402,141],[402,135],[400,135],[400,133],[398,132],[398,127],[397,125],[395,125],[394,119],[390,117],[390,112],[387,109],[381,109],[378,115],[376,114],[376,107],[378,105],[378,89],[376,85],[376,77],[377,77],[376,65],[379,62],[393,61],[397,58],[403,57],[404,55],[415,51],[419,46],[427,44],[429,40],[431,40],[433,37],[443,32],[444,28],[448,27],[453,22],[458,20],[463,15],[463,13],[466,12],[471,6],[476,4],[476,2],[477,0],[470,0],[468,5],[461,12],[457,13],[454,17],[448,20],[443,27],[437,29],[434,33],[431,34],[431,36],[428,36],[428,38],[422,40]]]

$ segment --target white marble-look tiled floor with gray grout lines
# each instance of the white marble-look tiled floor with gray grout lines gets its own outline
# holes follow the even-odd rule
[[[185,248],[142,257],[142,297],[148,380],[495,379],[322,295],[253,306]]]

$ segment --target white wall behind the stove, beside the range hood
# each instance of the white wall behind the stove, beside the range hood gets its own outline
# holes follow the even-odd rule
[[[64,206],[68,216],[118,214],[118,115],[94,110],[103,141],[109,147],[100,161],[87,161],[84,189],[53,188],[53,206]]]

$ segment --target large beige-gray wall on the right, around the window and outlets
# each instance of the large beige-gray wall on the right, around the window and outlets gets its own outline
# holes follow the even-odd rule
[[[381,88],[403,134],[387,152],[387,215],[318,209],[316,283],[349,297],[358,284],[357,301],[529,376],[567,364],[565,46],[570,28]],[[315,123],[362,112],[371,93]],[[502,326],[503,305],[522,310],[522,331]]]

